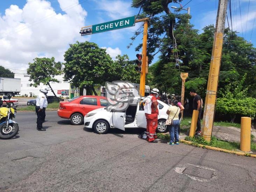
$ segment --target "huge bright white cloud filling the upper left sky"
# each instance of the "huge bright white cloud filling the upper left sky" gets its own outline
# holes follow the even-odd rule
[[[63,61],[69,43],[84,40],[79,30],[87,12],[78,0],[58,2],[65,14],[57,14],[46,0],[27,0],[22,9],[11,5],[5,10],[0,16],[0,65],[26,69],[40,55]]]

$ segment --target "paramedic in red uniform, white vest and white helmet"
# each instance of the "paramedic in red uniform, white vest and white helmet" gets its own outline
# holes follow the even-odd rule
[[[156,135],[156,128],[158,124],[158,102],[156,100],[156,95],[158,94],[159,90],[154,88],[151,90],[151,94],[147,97],[145,101],[145,116],[147,119],[147,140],[150,143],[156,143],[155,138]]]

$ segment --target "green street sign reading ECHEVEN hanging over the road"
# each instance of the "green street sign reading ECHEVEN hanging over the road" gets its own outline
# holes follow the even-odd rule
[[[92,34],[135,26],[135,16],[92,26]]]

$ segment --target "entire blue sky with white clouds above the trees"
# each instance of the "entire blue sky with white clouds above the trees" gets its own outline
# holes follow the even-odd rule
[[[187,2],[189,0],[183,0],[182,5]],[[131,8],[130,4],[130,0],[79,0],[79,3],[78,0],[1,0],[0,43],[3,46],[0,48],[0,65],[24,70],[35,57],[54,56],[57,61],[63,61],[69,43],[77,40],[95,42],[99,47],[107,48],[113,58],[117,54],[127,54],[130,59],[135,59],[134,48],[142,41],[142,36],[130,49],[127,45],[138,23],[135,27],[79,36],[80,27],[137,15],[138,9]],[[241,22],[239,0],[232,0],[233,29],[242,36],[242,23],[243,37],[251,40],[255,47],[256,0],[250,0],[249,12],[248,4],[249,0],[240,0]],[[170,6],[179,7],[177,3]],[[195,29],[201,31],[204,26],[215,24],[218,0],[192,0],[184,8],[188,6],[192,15],[190,22]],[[186,13],[186,10],[182,12]]]

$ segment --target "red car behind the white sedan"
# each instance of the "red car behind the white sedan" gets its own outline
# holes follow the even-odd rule
[[[70,101],[59,102],[58,116],[70,119],[72,125],[82,125],[88,112],[106,106],[106,97],[84,95]]]

